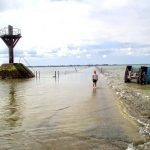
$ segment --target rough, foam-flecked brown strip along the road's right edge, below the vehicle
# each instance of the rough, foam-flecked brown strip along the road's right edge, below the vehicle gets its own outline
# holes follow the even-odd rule
[[[124,113],[127,113],[139,124],[139,132],[146,139],[144,143],[137,143],[132,149],[150,149],[150,96],[144,95],[134,88],[122,86],[118,74],[112,74],[109,70],[102,72],[101,68],[97,69],[104,75],[108,85],[119,97]]]

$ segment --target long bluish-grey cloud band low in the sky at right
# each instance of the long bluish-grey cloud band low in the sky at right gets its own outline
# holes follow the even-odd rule
[[[90,43],[90,42],[89,42]],[[93,55],[148,55],[150,54],[150,45],[138,43],[123,43],[115,41],[107,41],[95,44],[84,44],[82,46],[68,45],[69,49],[86,50],[87,53]]]

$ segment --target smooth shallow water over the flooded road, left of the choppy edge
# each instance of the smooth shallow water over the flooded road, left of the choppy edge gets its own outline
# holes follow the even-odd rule
[[[93,68],[40,79],[0,81],[0,149],[121,150],[144,139]]]

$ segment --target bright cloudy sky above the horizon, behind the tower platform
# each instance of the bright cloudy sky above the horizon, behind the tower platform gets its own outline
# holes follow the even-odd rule
[[[21,29],[15,62],[30,65],[150,64],[149,16],[149,0],[0,0],[0,29]]]

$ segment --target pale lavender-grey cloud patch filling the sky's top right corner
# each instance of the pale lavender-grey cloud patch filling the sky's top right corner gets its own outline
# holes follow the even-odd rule
[[[99,5],[97,6],[97,9],[95,7],[91,13],[91,19],[101,18],[101,20],[105,23],[111,25],[111,28],[113,29],[128,29],[128,34],[132,34],[134,32],[141,32],[142,34],[143,30],[146,30],[146,32],[149,33],[150,1],[148,0],[132,0],[124,7],[110,10],[99,9]],[[144,33],[144,35],[145,34],[146,33]]]

